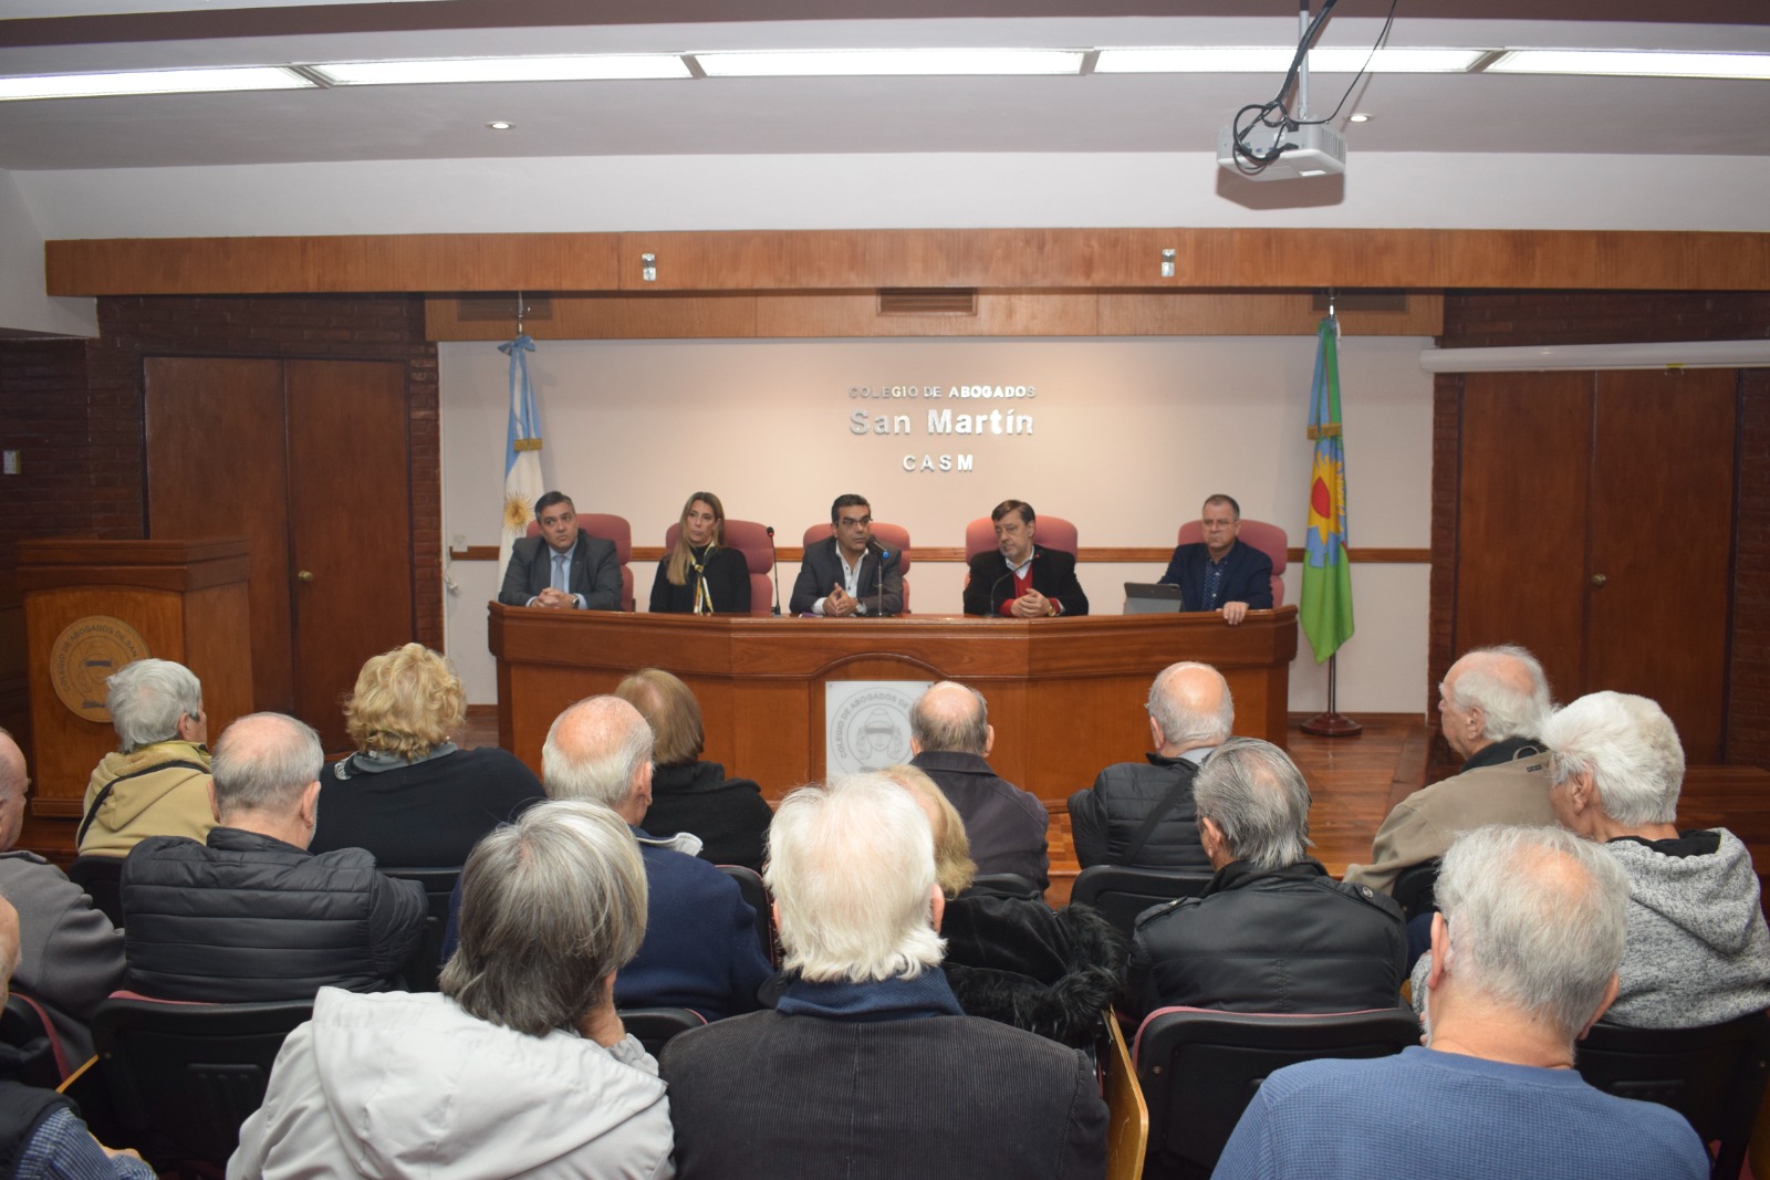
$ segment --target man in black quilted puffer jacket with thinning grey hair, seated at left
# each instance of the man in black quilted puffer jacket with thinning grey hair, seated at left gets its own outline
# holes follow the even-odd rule
[[[308,853],[324,754],[312,729],[253,713],[216,743],[207,844],[149,837],[122,867],[129,987],[163,1000],[308,1000],[384,991],[425,920],[425,890],[359,847]]]

